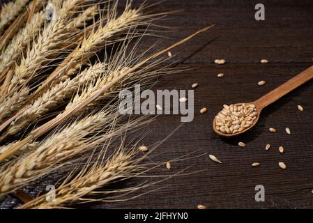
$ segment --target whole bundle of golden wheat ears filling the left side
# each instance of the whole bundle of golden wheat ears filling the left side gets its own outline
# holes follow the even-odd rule
[[[56,171],[64,178],[56,183],[54,202],[43,194],[24,199],[20,208],[123,201],[125,194],[148,185],[103,190],[153,169],[143,162],[153,149],[143,155],[139,139],[125,143],[130,131],[151,118],[121,116],[119,91],[178,72],[162,66],[165,52],[211,26],[166,49],[151,52],[151,45],[142,52],[142,40],[165,29],[158,20],[167,13],[133,4],[15,0],[2,6],[0,199],[17,196]]]

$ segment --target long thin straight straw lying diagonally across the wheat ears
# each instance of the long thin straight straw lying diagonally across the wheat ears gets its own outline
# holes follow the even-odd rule
[[[148,61],[151,61],[151,60],[155,59],[156,57],[164,54],[165,52],[168,52],[170,49],[187,42],[188,40],[190,40],[194,36],[197,36],[199,33],[202,33],[204,31],[212,28],[213,26],[214,25],[207,26],[204,29],[201,29],[201,30],[197,31],[196,33],[193,33],[192,35],[190,35],[190,36],[184,38],[183,40],[175,43],[174,45],[171,45],[170,47],[162,49],[159,52],[156,52],[155,54],[152,54],[151,56],[148,56],[145,59],[142,59],[142,61],[139,61],[135,66],[132,66],[132,68],[128,69],[127,71],[123,70],[123,72],[121,72],[121,75],[119,75],[119,77],[112,79],[111,82],[105,84],[105,86],[102,86],[101,89],[98,89],[98,91],[96,91],[96,93],[91,95],[91,97],[87,98],[86,100],[84,100],[82,102],[79,102],[79,104],[77,106],[73,107],[72,109],[69,109],[66,112],[63,112],[59,116],[56,116],[56,118],[48,121],[47,123],[41,125],[38,128],[36,128],[36,130],[33,130],[31,132],[31,134],[29,134],[29,136],[22,139],[21,141],[18,141],[13,146],[10,146],[10,148],[8,148],[8,150],[5,153],[2,153],[0,155],[0,162],[3,162],[4,160],[8,159],[8,157],[14,155],[15,152],[19,151],[20,148],[22,148],[25,144],[29,143],[29,141],[33,141],[34,139],[37,139],[41,135],[45,134],[45,132],[51,130],[52,128],[56,127],[60,123],[63,123],[63,121],[66,121],[68,118],[70,118],[70,116],[72,116],[73,114],[76,114],[77,112],[82,110],[84,107],[86,107],[87,105],[89,105],[93,101],[100,98],[101,95],[103,95],[112,86],[114,86],[114,84],[116,84],[116,82],[120,82],[121,79],[123,79],[123,77],[127,77],[130,73],[132,73],[135,70],[144,66]]]

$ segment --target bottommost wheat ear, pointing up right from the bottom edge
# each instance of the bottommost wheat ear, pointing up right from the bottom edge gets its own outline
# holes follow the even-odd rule
[[[115,180],[138,176],[141,166],[134,162],[134,156],[135,152],[132,150],[123,151],[119,149],[105,164],[94,164],[89,171],[83,169],[74,179],[62,183],[55,190],[56,199],[54,201],[47,202],[46,196],[43,195],[25,203],[20,208],[65,208],[70,203],[82,201],[86,195],[90,195]]]

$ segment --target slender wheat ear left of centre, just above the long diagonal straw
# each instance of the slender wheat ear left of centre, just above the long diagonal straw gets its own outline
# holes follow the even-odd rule
[[[73,79],[66,79],[49,89],[35,100],[31,105],[27,106],[25,112],[20,114],[10,125],[6,132],[1,134],[0,141],[6,139],[9,135],[16,134],[26,128],[31,122],[47,113],[50,109],[60,105],[63,100],[71,98],[75,94],[79,86],[84,86],[98,78],[105,70],[105,63],[96,63],[90,68],[82,71]]]

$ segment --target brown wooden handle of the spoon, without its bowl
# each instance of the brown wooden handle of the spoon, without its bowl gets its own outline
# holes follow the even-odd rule
[[[304,70],[303,72],[300,72],[300,74],[296,75],[295,77],[292,77],[291,79],[289,79],[289,81],[285,82],[284,84],[278,86],[273,91],[270,91],[266,95],[262,96],[254,103],[259,107],[259,109],[264,109],[264,107],[282,98],[282,96],[296,89],[301,84],[310,81],[310,79],[312,78],[313,78],[313,66],[307,68],[307,70]]]

